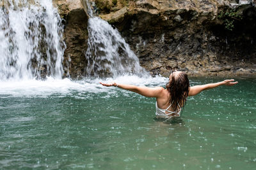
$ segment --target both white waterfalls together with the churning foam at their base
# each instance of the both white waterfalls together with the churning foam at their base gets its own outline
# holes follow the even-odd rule
[[[81,81],[61,79],[63,25],[52,2],[0,0],[0,5],[0,99],[104,91],[100,81],[134,85],[165,81],[163,77],[148,76],[119,32],[100,18],[92,17],[92,13],[86,52],[88,75]]]

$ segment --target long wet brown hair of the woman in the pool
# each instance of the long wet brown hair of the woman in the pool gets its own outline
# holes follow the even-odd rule
[[[170,92],[169,103],[172,104],[173,110],[179,110],[179,105],[184,107],[189,92],[188,74],[184,72],[180,72],[177,76],[172,74],[172,79],[166,84],[166,89]]]

